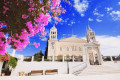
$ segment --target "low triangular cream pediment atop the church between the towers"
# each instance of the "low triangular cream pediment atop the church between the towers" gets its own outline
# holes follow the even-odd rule
[[[75,36],[64,38],[59,40],[60,42],[77,42],[77,43],[86,43],[87,41],[85,39],[77,38]]]

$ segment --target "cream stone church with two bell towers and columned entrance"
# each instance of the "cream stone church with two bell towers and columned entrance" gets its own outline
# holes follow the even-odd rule
[[[100,44],[96,41],[95,32],[88,26],[86,40],[75,36],[57,40],[57,28],[50,29],[47,56],[80,56],[87,64],[102,64]]]

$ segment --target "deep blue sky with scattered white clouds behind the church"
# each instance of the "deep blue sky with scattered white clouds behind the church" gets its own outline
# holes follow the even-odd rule
[[[70,0],[73,6],[62,2],[61,5],[66,9],[65,14],[59,17],[62,19],[55,26],[58,30],[58,40],[76,35],[85,38],[88,25],[95,31],[96,39],[101,44],[103,55],[120,54],[120,1],[119,0]],[[31,43],[40,42],[40,47],[35,48],[29,44],[22,51],[16,54],[31,56],[40,50],[45,51],[49,30],[55,24],[51,19],[45,27],[47,35],[38,37],[35,35],[30,38]],[[7,51],[12,53],[12,49]]]

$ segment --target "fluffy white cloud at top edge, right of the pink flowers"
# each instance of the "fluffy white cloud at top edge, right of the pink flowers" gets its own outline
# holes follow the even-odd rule
[[[84,12],[88,8],[88,5],[89,3],[87,0],[83,0],[82,2],[80,2],[80,0],[74,0],[74,7],[81,14],[82,17],[84,16]]]

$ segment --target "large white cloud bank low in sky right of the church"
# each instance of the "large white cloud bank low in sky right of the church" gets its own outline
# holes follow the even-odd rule
[[[96,36],[100,43],[101,53],[105,56],[120,54],[120,36]]]

